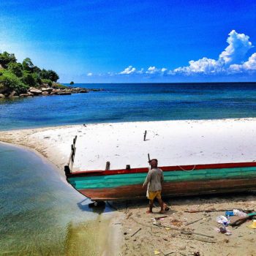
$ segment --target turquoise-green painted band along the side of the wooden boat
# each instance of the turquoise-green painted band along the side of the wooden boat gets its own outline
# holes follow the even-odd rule
[[[127,173],[109,176],[87,176],[68,178],[75,189],[102,189],[121,187],[132,184],[143,184],[147,173]],[[187,171],[164,172],[165,181],[206,181],[221,178],[251,178],[256,177],[256,167],[236,167],[221,169],[202,169]]]

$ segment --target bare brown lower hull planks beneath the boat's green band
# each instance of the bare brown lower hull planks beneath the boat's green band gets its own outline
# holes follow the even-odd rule
[[[163,184],[162,197],[246,192],[253,189],[256,189],[256,179],[184,181]],[[142,188],[141,184],[108,189],[78,189],[78,192],[95,201],[146,198],[146,189]]]

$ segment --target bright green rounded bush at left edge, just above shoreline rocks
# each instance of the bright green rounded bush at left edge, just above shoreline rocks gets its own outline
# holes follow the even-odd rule
[[[0,75],[0,83],[8,89],[7,92],[16,91],[18,94],[22,94],[29,89],[29,86],[22,83],[20,79],[9,70],[2,72]]]

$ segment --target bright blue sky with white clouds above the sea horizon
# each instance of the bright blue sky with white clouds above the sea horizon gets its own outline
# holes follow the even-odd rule
[[[256,81],[256,1],[0,1],[0,51],[59,82]]]

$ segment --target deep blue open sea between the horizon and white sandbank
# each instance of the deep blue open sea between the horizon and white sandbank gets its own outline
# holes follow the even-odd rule
[[[256,83],[76,84],[105,91],[0,99],[0,129],[256,117]]]

